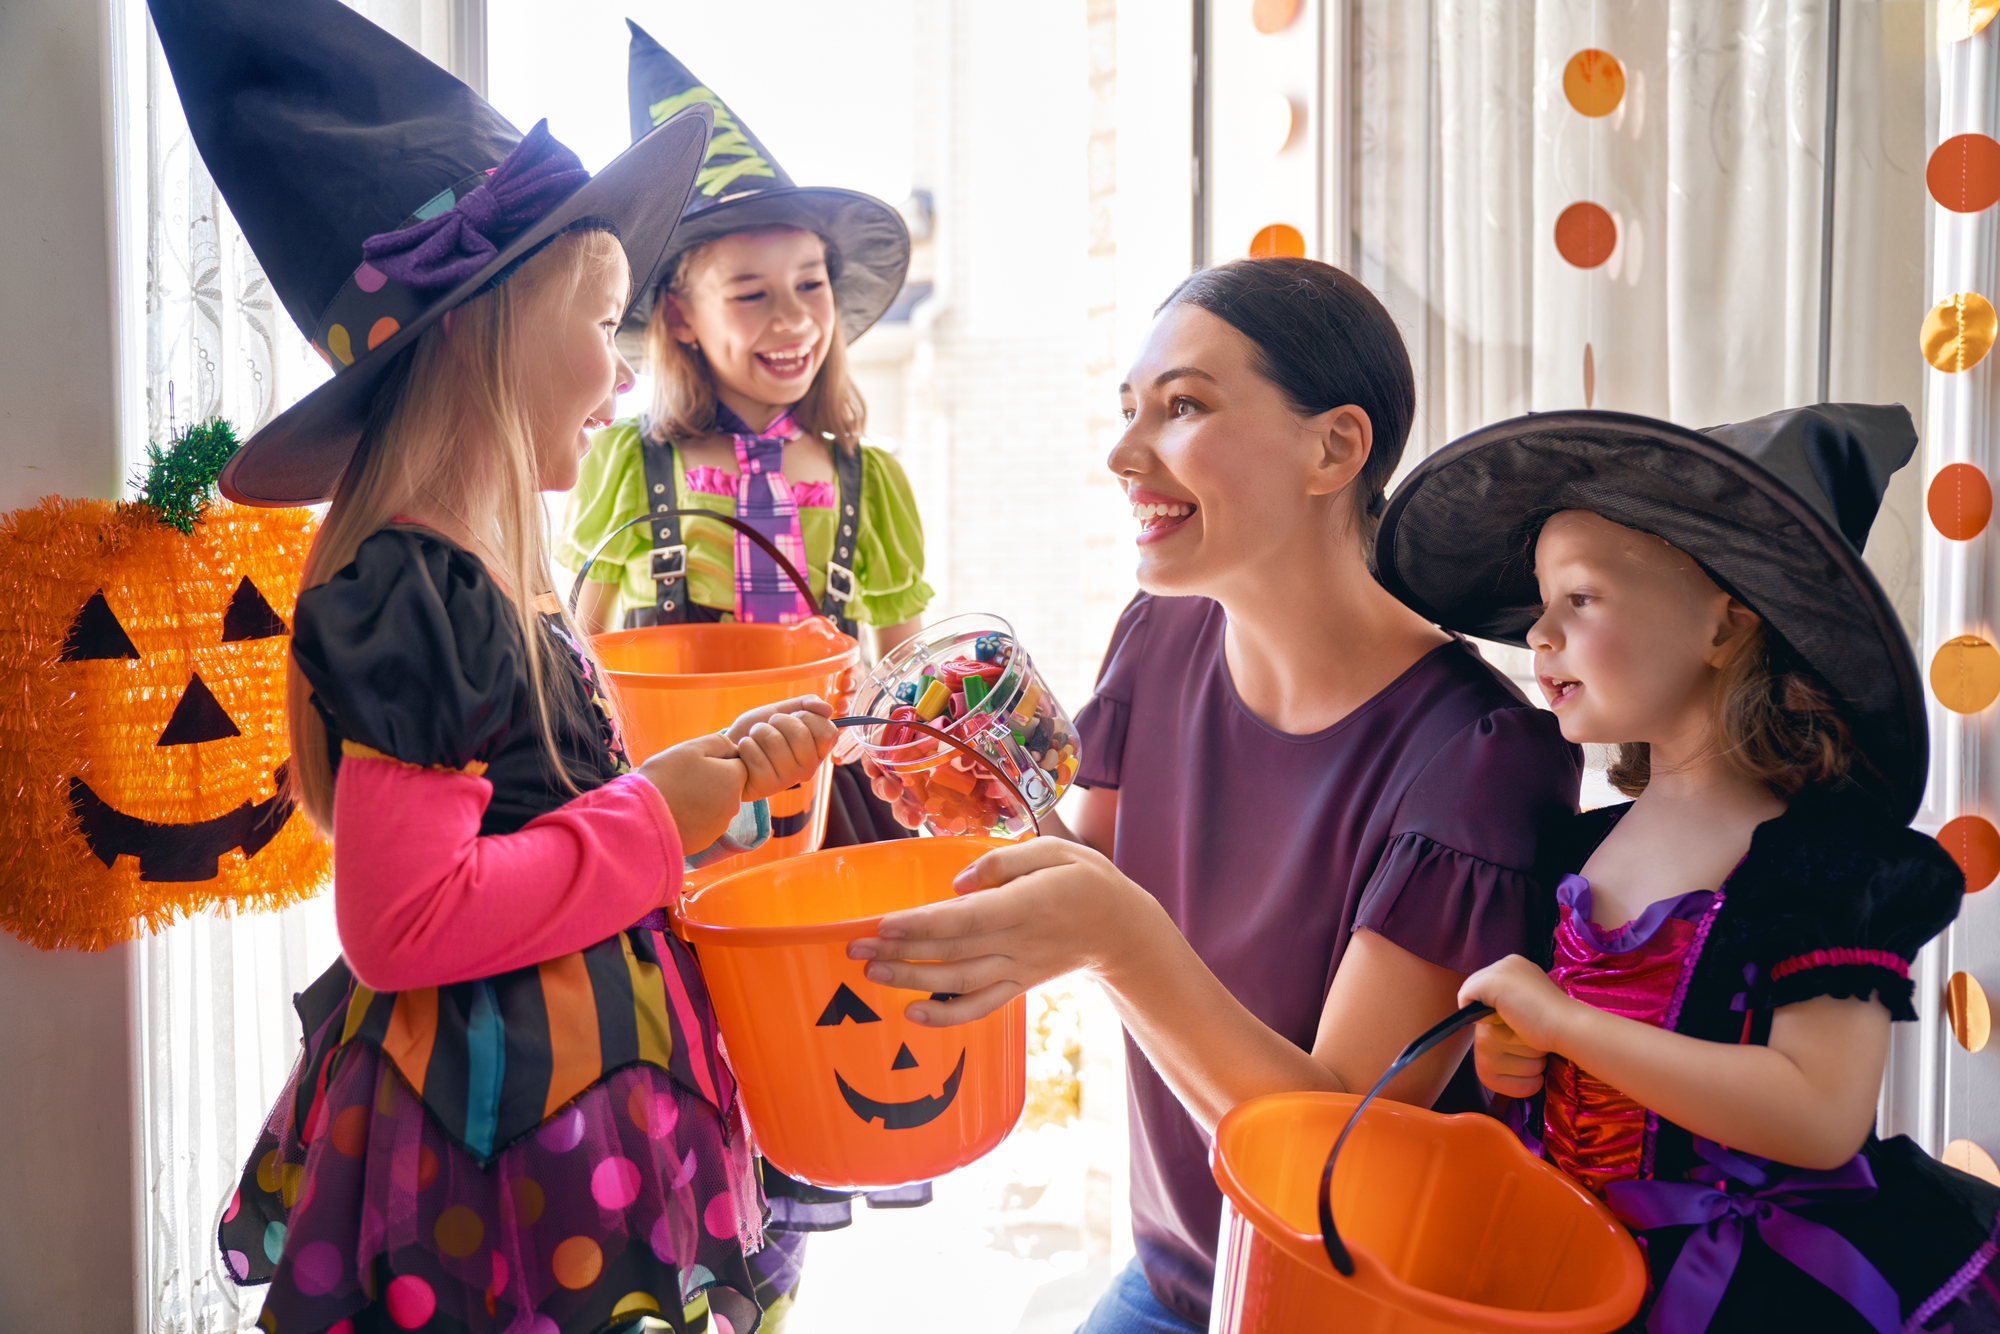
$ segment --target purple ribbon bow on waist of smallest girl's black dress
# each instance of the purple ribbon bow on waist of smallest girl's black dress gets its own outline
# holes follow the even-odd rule
[[[1714,1320],[1722,1292],[1742,1258],[1744,1230],[1756,1228],[1764,1244],[1816,1278],[1882,1334],[1902,1328],[1902,1302],[1882,1272],[1832,1228],[1790,1212],[1836,1200],[1860,1202],[1876,1192],[1868,1160],[1854,1154],[1832,1172],[1772,1164],[1732,1154],[1696,1136],[1694,1150],[1710,1168],[1694,1182],[1612,1182],[1604,1202],[1634,1232],[1694,1224],[1674,1268],[1660,1284],[1660,1300],[1646,1318],[1650,1334],[1700,1334]],[[1776,1166],[1774,1176],[1766,1168]]]

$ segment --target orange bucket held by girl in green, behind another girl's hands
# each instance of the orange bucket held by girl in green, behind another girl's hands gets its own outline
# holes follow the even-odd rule
[[[632,764],[668,746],[720,732],[760,704],[816,694],[846,708],[860,646],[832,622],[796,626],[714,622],[614,630],[590,640],[610,680]],[[770,798],[770,840],[704,872],[780,862],[812,852],[826,834],[832,764]],[[692,848],[690,848],[692,852]]]

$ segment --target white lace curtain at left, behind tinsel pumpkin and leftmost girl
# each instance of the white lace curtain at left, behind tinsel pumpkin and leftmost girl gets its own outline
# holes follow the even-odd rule
[[[444,0],[354,8],[444,60]],[[122,0],[114,14],[130,48],[144,48],[126,66],[134,78],[144,68],[144,162],[122,180],[144,194],[124,204],[144,218],[146,434],[164,442],[176,428],[224,416],[248,436],[330,372],[216,192],[144,2]],[[140,148],[136,126],[132,148]],[[128,256],[134,270],[136,258]],[[230,1282],[216,1224],[298,1058],[292,996],[340,952],[332,896],[276,914],[202,914],[136,952],[144,1328],[248,1330],[264,1290]]]

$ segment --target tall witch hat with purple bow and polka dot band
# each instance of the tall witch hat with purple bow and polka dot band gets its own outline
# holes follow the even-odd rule
[[[150,0],[188,128],[286,312],[334,368],[222,470],[230,500],[326,500],[398,354],[572,228],[650,292],[712,110],[590,176],[340,0]]]

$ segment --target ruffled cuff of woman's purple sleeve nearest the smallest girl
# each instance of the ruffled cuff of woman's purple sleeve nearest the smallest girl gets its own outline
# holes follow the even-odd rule
[[[1534,876],[1422,834],[1398,834],[1362,890],[1356,930],[1418,958],[1474,972],[1506,954],[1540,956],[1548,918]]]

